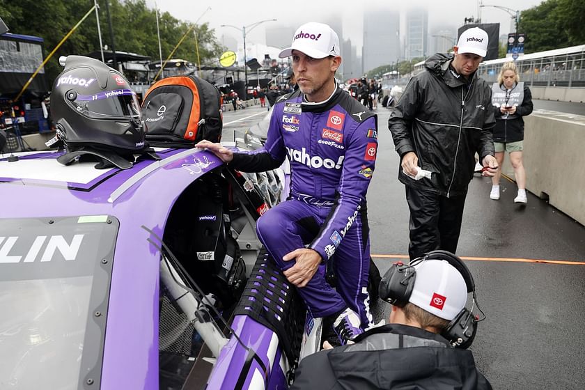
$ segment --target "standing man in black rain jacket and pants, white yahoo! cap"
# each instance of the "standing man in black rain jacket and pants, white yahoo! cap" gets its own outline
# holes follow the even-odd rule
[[[455,253],[475,153],[483,176],[494,176],[491,88],[476,70],[487,33],[464,31],[454,56],[435,54],[412,77],[388,122],[400,155],[398,179],[410,209],[409,256],[444,249]]]

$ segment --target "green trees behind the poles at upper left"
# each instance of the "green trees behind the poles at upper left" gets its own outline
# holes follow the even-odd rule
[[[103,44],[111,46],[105,1],[98,1],[100,28]],[[145,0],[108,1],[116,50],[157,59],[159,49],[155,10],[148,8]],[[93,0],[0,0],[0,17],[13,33],[43,38],[47,56],[92,6]],[[166,58],[193,24],[180,21],[169,13],[160,15],[159,24],[162,55]],[[196,63],[196,36],[201,65],[216,61],[223,47],[217,42],[214,30],[209,29],[208,24],[194,26],[192,33],[182,42],[173,57]],[[61,72],[59,56],[83,55],[98,51],[99,42],[98,26],[92,13],[45,66],[49,82]]]

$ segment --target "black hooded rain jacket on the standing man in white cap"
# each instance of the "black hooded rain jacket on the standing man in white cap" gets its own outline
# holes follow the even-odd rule
[[[437,53],[426,70],[410,79],[388,120],[394,146],[402,159],[416,153],[419,166],[432,179],[414,180],[399,166],[398,180],[442,196],[467,193],[475,153],[480,162],[494,155],[492,89],[476,73],[469,83],[449,67],[453,57]]]

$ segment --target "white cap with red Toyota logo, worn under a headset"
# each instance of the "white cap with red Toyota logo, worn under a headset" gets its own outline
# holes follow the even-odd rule
[[[446,260],[423,260],[414,265],[416,279],[408,302],[451,321],[465,307],[465,279]]]

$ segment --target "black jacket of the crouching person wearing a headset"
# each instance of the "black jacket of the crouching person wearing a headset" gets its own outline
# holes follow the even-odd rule
[[[290,389],[491,390],[469,350],[438,334],[384,325],[302,359]]]

